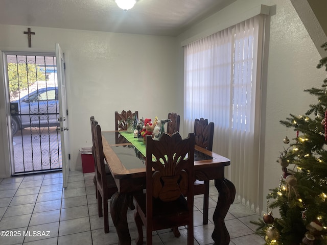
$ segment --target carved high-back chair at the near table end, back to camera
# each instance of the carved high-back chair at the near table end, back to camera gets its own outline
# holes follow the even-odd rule
[[[147,244],[152,231],[178,226],[188,226],[188,244],[193,244],[194,144],[194,133],[185,139],[179,132],[159,140],[147,136],[146,193],[134,195],[137,245],[143,243],[142,225]]]

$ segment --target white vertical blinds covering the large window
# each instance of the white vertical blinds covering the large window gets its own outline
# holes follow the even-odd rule
[[[184,129],[215,123],[214,151],[230,159],[237,199],[258,211],[262,15],[185,46]],[[262,207],[261,207],[262,208]]]

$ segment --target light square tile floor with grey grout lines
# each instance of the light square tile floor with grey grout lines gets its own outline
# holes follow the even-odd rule
[[[98,217],[93,177],[94,173],[71,171],[66,189],[62,188],[61,172],[0,179],[0,231],[5,231],[1,233],[0,244],[118,244],[111,218],[110,232],[105,234],[103,218]],[[212,217],[218,198],[213,185],[210,195],[209,217]],[[194,206],[194,244],[213,244],[213,223],[209,220],[208,225],[202,225],[202,197],[195,198]],[[225,218],[230,244],[264,244],[249,223],[258,217],[241,203],[233,203]],[[137,231],[131,210],[128,220],[134,239]],[[186,244],[187,230],[181,229],[180,233],[181,237],[176,238],[170,230],[154,232],[153,243]],[[134,240],[131,244],[135,244]]]

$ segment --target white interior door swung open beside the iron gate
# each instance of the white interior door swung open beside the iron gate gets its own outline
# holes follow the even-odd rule
[[[56,43],[56,60],[58,76],[58,96],[59,96],[59,118],[61,136],[61,155],[62,155],[62,176],[63,187],[67,187],[69,176],[69,138],[68,138],[68,109],[66,101],[66,83],[64,70],[64,54]],[[59,129],[59,128],[58,128]]]

